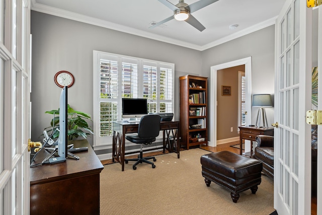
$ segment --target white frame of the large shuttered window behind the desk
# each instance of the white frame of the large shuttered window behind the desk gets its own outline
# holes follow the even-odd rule
[[[104,60],[114,60],[118,63],[118,94],[117,99],[102,99],[100,97],[100,72],[101,72],[101,59]],[[124,61],[123,61],[124,60]],[[144,98],[143,97],[143,65],[153,65],[156,66],[157,69],[157,83],[160,83],[160,68],[166,68],[172,70],[172,83],[171,83],[171,99],[167,100],[160,100],[159,99],[159,92],[160,92],[160,85],[157,85],[157,97],[155,100],[151,100],[152,103],[156,102],[156,111],[160,108],[160,103],[166,101],[171,103],[171,110],[174,112],[174,91],[175,91],[175,64],[169,63],[169,62],[162,62],[162,61],[156,61],[156,60],[150,60],[150,59],[143,59],[138,57],[132,57],[132,56],[126,56],[126,55],[120,55],[120,54],[114,54],[114,53],[108,53],[103,51],[93,51],[93,128],[94,128],[94,142],[93,147],[95,150],[103,150],[106,149],[106,146],[108,148],[112,147],[112,135],[111,136],[100,136],[100,122],[101,122],[101,114],[100,114],[100,104],[101,102],[111,102],[115,101],[118,104],[120,104],[117,108],[117,121],[122,120],[122,62],[137,62],[137,73],[138,73],[138,88],[137,88],[137,98]],[[171,72],[170,72],[171,73]],[[148,99],[148,103],[149,103]]]

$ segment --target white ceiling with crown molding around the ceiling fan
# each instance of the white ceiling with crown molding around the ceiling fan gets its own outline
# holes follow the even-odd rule
[[[168,0],[178,4],[178,0]],[[192,15],[206,29],[198,31],[184,21],[171,20],[149,29],[173,15],[157,0],[32,0],[32,10],[106,27],[197,50],[205,50],[275,23],[286,0],[219,0]],[[197,0],[186,0],[188,5]],[[230,30],[229,26],[238,27]]]

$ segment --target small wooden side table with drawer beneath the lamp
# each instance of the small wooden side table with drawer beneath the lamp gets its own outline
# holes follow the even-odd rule
[[[256,126],[240,126],[239,128],[239,154],[252,157],[253,154],[253,141],[256,141],[255,137],[257,135],[270,135],[274,136],[274,128],[263,128]],[[251,152],[243,153],[243,139],[251,140]]]

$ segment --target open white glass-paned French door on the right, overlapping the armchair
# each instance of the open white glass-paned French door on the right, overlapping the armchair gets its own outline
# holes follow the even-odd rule
[[[274,207],[279,215],[310,214],[311,10],[286,0],[276,21]]]

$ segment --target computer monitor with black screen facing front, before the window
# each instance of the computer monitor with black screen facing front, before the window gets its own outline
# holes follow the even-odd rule
[[[147,114],[147,100],[122,98],[122,118],[141,118]]]

